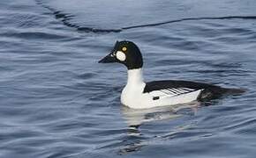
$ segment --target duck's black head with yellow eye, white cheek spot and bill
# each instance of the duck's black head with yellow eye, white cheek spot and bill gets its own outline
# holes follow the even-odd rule
[[[112,52],[105,56],[99,63],[119,62],[128,69],[142,68],[142,55],[132,41],[117,41]]]

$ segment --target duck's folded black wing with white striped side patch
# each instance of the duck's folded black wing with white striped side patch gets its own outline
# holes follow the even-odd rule
[[[222,88],[206,83],[169,80],[147,83],[143,92],[149,93],[154,100],[157,100],[161,97],[176,97],[198,90],[201,91],[199,97],[213,97],[214,93],[219,93]]]

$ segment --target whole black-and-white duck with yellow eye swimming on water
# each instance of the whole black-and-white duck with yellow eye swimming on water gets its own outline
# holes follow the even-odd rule
[[[129,40],[117,41],[113,50],[98,61],[117,62],[127,68],[127,83],[121,93],[121,104],[132,109],[148,109],[157,106],[204,102],[223,94],[237,94],[244,90],[222,88],[209,83],[183,80],[144,82],[143,58],[139,47]]]

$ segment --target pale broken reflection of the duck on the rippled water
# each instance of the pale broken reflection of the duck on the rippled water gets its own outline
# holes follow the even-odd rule
[[[121,147],[118,154],[128,154],[130,152],[136,152],[141,147],[147,146],[147,144],[154,139],[166,138],[166,135],[172,135],[172,133],[179,133],[186,129],[188,126],[179,126],[177,129],[171,130],[170,133],[164,135],[155,135],[154,137],[148,137],[147,135],[140,133],[139,126],[147,124],[149,122],[175,119],[187,113],[195,114],[198,110],[200,103],[193,102],[191,104],[177,104],[175,106],[163,106],[150,109],[131,109],[126,106],[122,106],[122,112],[126,123],[128,124],[128,135],[126,142],[129,142]],[[183,111],[184,110],[184,111]],[[174,127],[175,128],[175,127]]]

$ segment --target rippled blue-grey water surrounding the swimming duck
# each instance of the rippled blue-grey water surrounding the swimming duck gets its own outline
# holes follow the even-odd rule
[[[0,157],[254,157],[255,1],[134,2],[0,2]],[[97,63],[117,39],[139,45],[147,81],[246,92],[127,109],[125,68]]]

